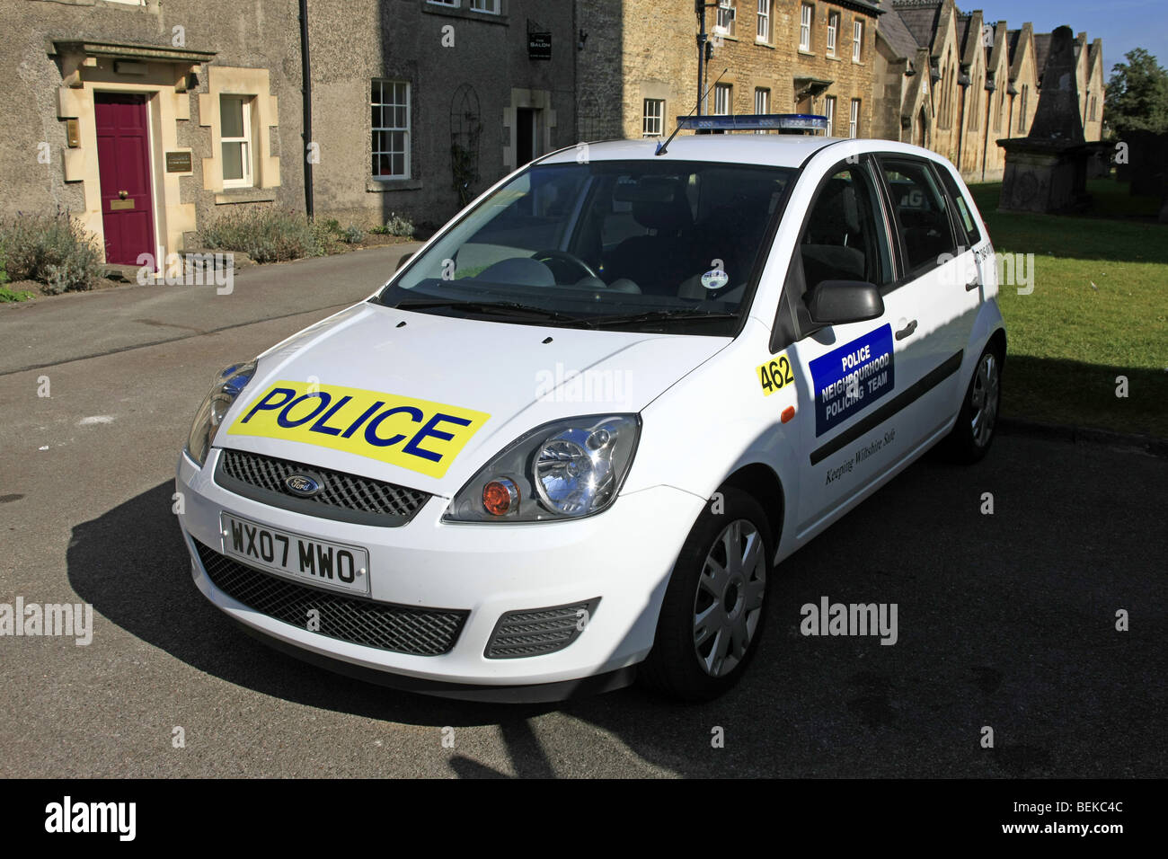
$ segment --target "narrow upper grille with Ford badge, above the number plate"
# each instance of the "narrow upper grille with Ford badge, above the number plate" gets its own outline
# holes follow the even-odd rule
[[[321,485],[311,498],[294,496],[284,485],[284,478],[305,473],[319,478]],[[404,525],[430,498],[427,492],[384,480],[243,450],[221,452],[215,482],[237,494],[285,510],[367,525]]]

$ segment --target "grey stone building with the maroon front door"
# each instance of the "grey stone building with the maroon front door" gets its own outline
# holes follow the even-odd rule
[[[440,223],[575,143],[570,2],[4,0],[0,213],[68,209],[107,262],[241,206]],[[310,164],[311,162],[311,164]],[[460,193],[461,189],[461,193]]]

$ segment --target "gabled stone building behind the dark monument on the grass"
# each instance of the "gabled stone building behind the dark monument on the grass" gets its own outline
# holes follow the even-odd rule
[[[941,153],[971,181],[1002,178],[997,140],[1024,137],[1042,95],[1050,34],[1009,29],[954,0],[883,5],[876,40],[874,137]],[[1076,42],[1080,113],[1089,140],[1101,134],[1103,42]],[[1091,118],[1093,117],[1093,118]]]

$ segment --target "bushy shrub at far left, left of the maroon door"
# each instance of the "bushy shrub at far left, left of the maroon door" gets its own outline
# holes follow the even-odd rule
[[[51,295],[91,290],[103,273],[97,237],[62,209],[0,222],[0,255],[6,277],[36,280]]]

